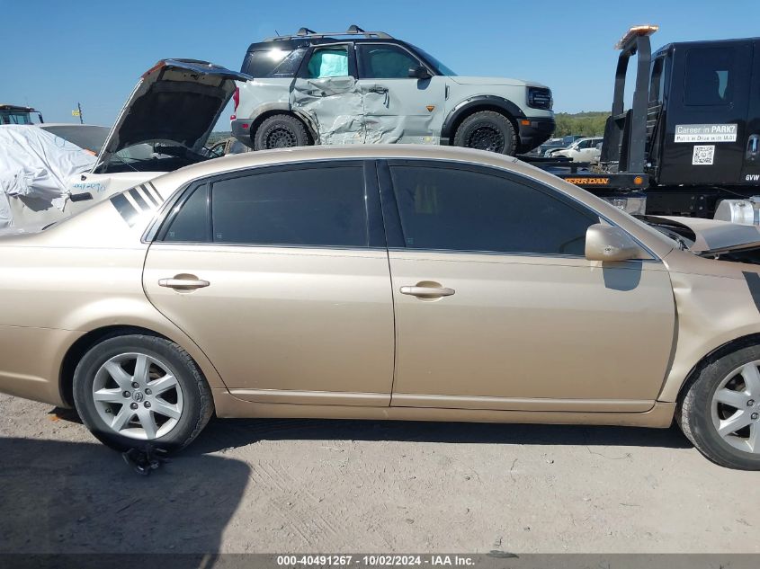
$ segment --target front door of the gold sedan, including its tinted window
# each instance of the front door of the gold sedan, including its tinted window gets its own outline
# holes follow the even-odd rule
[[[391,405],[652,407],[675,325],[662,262],[587,261],[598,214],[516,174],[441,161],[389,162],[380,174],[397,333]]]

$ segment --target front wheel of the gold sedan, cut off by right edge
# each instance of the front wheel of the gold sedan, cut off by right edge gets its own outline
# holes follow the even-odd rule
[[[676,413],[686,437],[707,458],[724,467],[760,470],[760,346],[702,369]]]

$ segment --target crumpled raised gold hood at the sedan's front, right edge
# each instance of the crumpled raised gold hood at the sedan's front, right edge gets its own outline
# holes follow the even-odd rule
[[[642,216],[642,220],[667,227],[693,244],[689,249],[700,255],[729,253],[760,248],[760,227],[729,221],[675,216]]]

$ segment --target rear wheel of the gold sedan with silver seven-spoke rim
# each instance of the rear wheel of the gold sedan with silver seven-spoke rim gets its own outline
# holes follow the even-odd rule
[[[117,450],[182,449],[214,409],[190,355],[142,334],[109,338],[87,351],[74,372],[74,402],[94,436]]]

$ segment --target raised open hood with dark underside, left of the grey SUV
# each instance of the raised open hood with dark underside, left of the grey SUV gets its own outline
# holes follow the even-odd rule
[[[251,79],[208,61],[162,59],[146,71],[119,113],[94,172],[133,145],[163,140],[199,152],[235,92]]]

